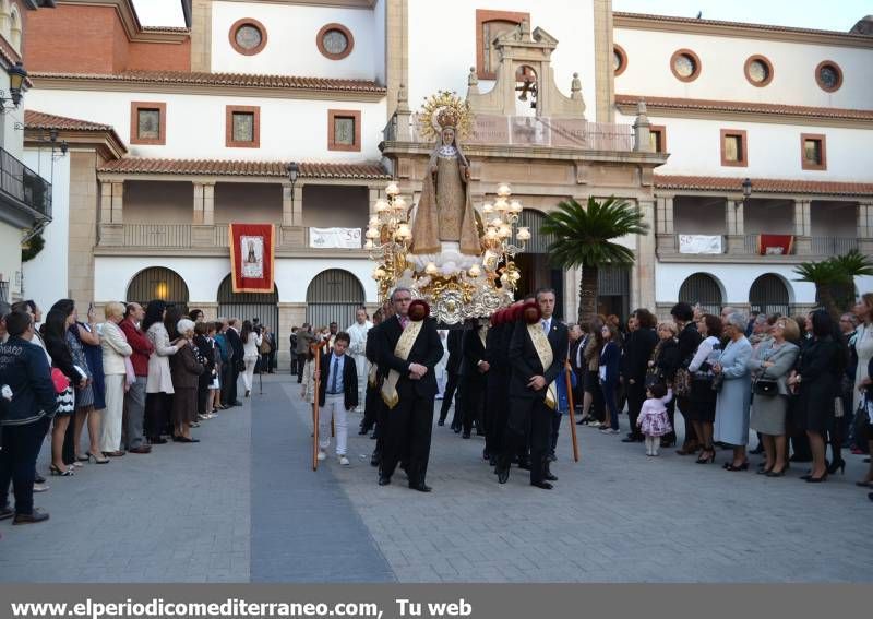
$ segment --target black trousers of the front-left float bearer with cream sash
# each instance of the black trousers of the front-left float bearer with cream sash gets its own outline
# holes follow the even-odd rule
[[[387,409],[387,406],[384,408]],[[433,430],[433,396],[424,397],[409,390],[400,394],[397,405],[386,413],[387,432],[382,452],[382,475],[391,477],[397,464],[406,460],[409,485],[424,483],[430,460]],[[405,457],[408,454],[408,460]]]

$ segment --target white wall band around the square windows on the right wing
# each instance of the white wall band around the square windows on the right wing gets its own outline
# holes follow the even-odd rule
[[[873,92],[870,100],[873,102]],[[633,120],[619,115],[615,121],[633,123]],[[666,118],[654,111],[649,114],[649,121],[667,128],[667,150],[670,153],[670,158],[657,168],[656,174],[852,182],[873,180],[873,151],[870,148],[873,130]],[[746,131],[748,167],[721,165],[721,129]],[[801,133],[826,136],[826,170],[801,168]]]

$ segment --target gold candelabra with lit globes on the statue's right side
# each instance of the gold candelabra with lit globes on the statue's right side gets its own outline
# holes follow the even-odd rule
[[[530,228],[518,226],[522,211],[522,203],[512,200],[512,190],[506,183],[498,187],[498,199],[493,204],[482,205],[485,224],[482,265],[487,271],[499,275],[501,286],[513,293],[522,277],[514,259],[516,254],[525,251],[527,241],[530,240]],[[470,276],[476,277],[478,273],[470,272]]]

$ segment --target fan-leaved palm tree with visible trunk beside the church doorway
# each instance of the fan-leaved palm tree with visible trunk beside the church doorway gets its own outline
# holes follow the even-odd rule
[[[549,246],[553,264],[562,269],[582,267],[579,282],[579,322],[597,316],[598,271],[606,265],[631,265],[634,253],[612,242],[626,235],[645,235],[648,224],[636,206],[611,197],[603,202],[588,198],[585,206],[573,199],[558,205],[546,216],[540,231],[554,235]]]

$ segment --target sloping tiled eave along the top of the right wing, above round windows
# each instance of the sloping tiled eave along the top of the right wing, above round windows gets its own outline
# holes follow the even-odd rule
[[[873,48],[873,37],[871,36],[835,31],[793,28],[741,22],[719,22],[715,20],[694,20],[690,17],[672,17],[644,13],[613,12],[612,19],[613,27],[617,29],[660,31],[703,36],[780,40],[802,45]]]

